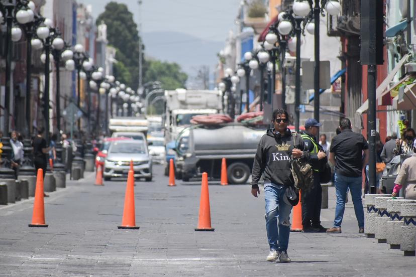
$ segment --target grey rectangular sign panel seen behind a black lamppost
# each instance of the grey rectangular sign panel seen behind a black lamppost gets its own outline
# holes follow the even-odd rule
[[[319,63],[319,87],[322,89],[331,88],[331,63],[321,61]],[[315,62],[302,62],[302,87],[303,89],[315,89]]]

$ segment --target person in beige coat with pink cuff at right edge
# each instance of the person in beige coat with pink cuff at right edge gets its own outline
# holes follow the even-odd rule
[[[413,142],[413,154],[400,167],[391,196],[396,197],[403,186],[404,198],[416,199],[416,141]]]

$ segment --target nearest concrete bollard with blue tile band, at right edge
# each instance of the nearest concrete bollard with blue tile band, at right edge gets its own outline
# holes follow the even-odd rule
[[[416,203],[402,204],[400,216],[403,217],[400,250],[404,251],[405,256],[414,256],[416,244]]]

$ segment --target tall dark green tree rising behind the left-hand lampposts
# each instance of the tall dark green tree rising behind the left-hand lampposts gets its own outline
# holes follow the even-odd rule
[[[137,89],[139,80],[139,33],[133,20],[133,14],[125,4],[110,2],[101,13],[96,24],[107,25],[109,44],[117,49],[115,77]]]

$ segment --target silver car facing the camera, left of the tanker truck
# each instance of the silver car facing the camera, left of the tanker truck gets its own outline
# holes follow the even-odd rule
[[[104,180],[128,176],[133,161],[134,177],[152,181],[152,158],[145,141],[123,140],[112,142],[104,163]]]

